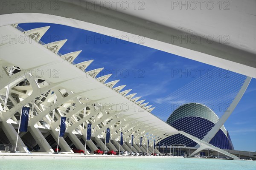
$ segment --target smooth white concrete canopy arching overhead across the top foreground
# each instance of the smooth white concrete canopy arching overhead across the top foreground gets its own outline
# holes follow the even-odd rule
[[[130,42],[256,77],[255,1],[219,1],[221,6],[212,1],[195,8],[189,1],[142,1],[134,9],[132,2],[120,6],[127,1],[106,7],[105,1],[57,0],[56,8],[44,4],[44,10],[35,7],[36,1],[22,10],[9,8],[9,2],[2,4],[0,26],[58,23],[126,36]]]

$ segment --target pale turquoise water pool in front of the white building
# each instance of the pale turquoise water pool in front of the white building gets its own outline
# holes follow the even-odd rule
[[[1,157],[0,170],[256,170],[256,161],[192,158],[32,158]]]

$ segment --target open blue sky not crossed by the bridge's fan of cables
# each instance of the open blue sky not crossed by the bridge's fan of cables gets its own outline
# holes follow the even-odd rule
[[[25,30],[51,26],[42,37],[45,43],[67,39],[59,51],[67,54],[82,50],[75,63],[94,59],[87,70],[105,69],[99,76],[113,74],[109,81],[120,79],[115,87],[127,85],[130,94],[142,96],[148,105],[192,82],[215,67],[91,31],[49,23],[19,24]],[[200,69],[200,70],[199,70]],[[181,74],[186,72],[187,74]],[[176,74],[177,73],[177,74]],[[99,77],[98,76],[98,77]],[[225,122],[236,150],[256,150],[256,80],[252,79],[235,111]]]

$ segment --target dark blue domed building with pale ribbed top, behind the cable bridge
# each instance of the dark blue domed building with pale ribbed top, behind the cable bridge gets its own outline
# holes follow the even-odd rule
[[[203,139],[211,128],[218,122],[218,116],[207,106],[199,103],[187,103],[177,108],[167,119],[167,123],[177,130],[182,130],[198,139]],[[184,144],[187,147],[195,147],[196,142],[176,134],[160,142],[160,144]],[[234,150],[228,131],[224,126],[215,134],[209,142],[221,148]]]

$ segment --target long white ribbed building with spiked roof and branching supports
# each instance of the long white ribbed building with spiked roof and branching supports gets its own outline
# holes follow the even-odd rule
[[[131,134],[134,134],[134,147],[140,136],[143,136],[142,151],[145,152],[147,139],[152,147],[154,140],[159,142],[168,136],[181,133],[195,139],[195,142],[212,150],[217,150],[234,159],[233,156],[205,141],[196,139],[189,134],[180,132],[150,112],[152,105],[143,103],[140,97],[128,94],[131,90],[122,91],[125,85],[113,87],[119,80],[107,82],[111,74],[96,77],[103,68],[92,71],[85,69],[93,60],[73,64],[81,51],[61,55],[59,49],[67,40],[44,44],[41,37],[49,27],[36,28],[29,31],[19,31],[16,25],[2,26],[1,35],[6,39],[0,44],[0,123],[4,133],[9,136],[11,144],[15,144],[18,125],[17,117],[22,106],[30,107],[29,132],[40,147],[40,151],[51,152],[52,147],[46,136],[51,134],[58,139],[58,126],[61,116],[67,117],[66,133],[71,144],[83,149],[86,136],[86,124],[92,124],[92,141],[87,141],[90,149],[104,149],[102,139],[105,129],[111,129],[111,141],[106,149],[118,150],[120,130],[123,132],[124,145],[121,150],[129,150]],[[20,43],[12,37],[24,37]],[[7,98],[5,96],[8,96]],[[7,105],[7,106],[6,106]],[[148,106],[147,106],[148,105]],[[21,133],[19,138],[26,133]],[[63,137],[59,144],[61,150],[73,152]],[[26,151],[22,139],[19,140],[21,150]],[[35,145],[34,144],[34,145]],[[32,144],[33,145],[33,144]],[[96,146],[98,145],[98,147]],[[153,152],[151,148],[149,151]]]

